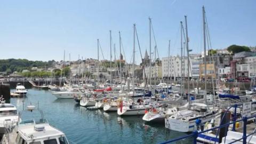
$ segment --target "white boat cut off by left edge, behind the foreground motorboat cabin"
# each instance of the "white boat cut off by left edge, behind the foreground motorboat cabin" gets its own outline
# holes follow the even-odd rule
[[[11,103],[0,103],[0,134],[5,132],[5,126],[13,127],[19,120],[17,108]]]

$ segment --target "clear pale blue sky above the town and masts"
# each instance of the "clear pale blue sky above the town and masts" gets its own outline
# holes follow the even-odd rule
[[[171,55],[180,53],[179,25],[184,15],[188,16],[189,46],[193,53],[201,52],[203,5],[214,49],[231,44],[256,45],[254,0],[6,0],[0,4],[0,59],[62,60],[64,50],[67,59],[71,53],[71,60],[78,59],[78,54],[97,58],[97,38],[105,59],[109,59],[109,30],[113,32],[117,48],[120,30],[127,61],[130,61],[133,23],[137,24],[142,55],[149,49],[149,16],[159,57],[167,57],[169,39]],[[136,56],[139,62],[138,46]],[[100,59],[103,59],[101,54]]]

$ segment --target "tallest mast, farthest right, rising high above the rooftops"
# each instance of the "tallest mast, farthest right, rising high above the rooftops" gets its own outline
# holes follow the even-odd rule
[[[205,40],[205,11],[204,11],[204,6],[203,6],[203,33],[204,33],[204,101],[205,103],[207,102],[206,100],[206,40]]]

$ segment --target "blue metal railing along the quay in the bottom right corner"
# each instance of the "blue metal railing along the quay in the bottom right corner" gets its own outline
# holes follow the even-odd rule
[[[252,103],[256,103],[256,102],[252,102]],[[246,135],[247,119],[255,118],[256,115],[253,115],[253,116],[250,116],[250,117],[243,117],[242,119],[237,120],[237,119],[236,119],[236,118],[237,118],[237,117],[236,117],[236,108],[237,108],[237,106],[241,106],[241,105],[242,105],[242,104],[239,104],[239,105],[236,104],[236,105],[230,107],[230,108],[232,108],[232,107],[235,108],[235,110],[234,110],[233,122],[231,122],[231,123],[223,124],[223,125],[220,125],[220,126],[217,126],[217,127],[213,127],[212,129],[208,129],[208,130],[204,130],[204,131],[193,131],[193,133],[191,133],[191,134],[184,135],[184,136],[181,136],[181,137],[179,137],[179,138],[172,139],[172,140],[168,140],[168,141],[162,142],[161,144],[171,143],[171,142],[175,142],[175,141],[179,141],[179,140],[186,139],[186,138],[191,138],[191,137],[194,137],[193,143],[196,144],[196,142],[197,142],[197,137],[198,137],[199,134],[202,134],[202,133],[205,133],[205,132],[209,132],[209,131],[212,131],[212,130],[215,130],[215,129],[218,129],[218,133],[219,133],[219,129],[220,129],[220,128],[229,126],[229,125],[231,125],[231,124],[233,124],[233,129],[232,129],[232,131],[235,131],[235,130],[236,130],[235,124],[236,124],[237,122],[242,122],[242,121],[243,121],[243,137],[242,137],[241,139],[237,139],[237,140],[235,140],[235,141],[233,141],[233,142],[230,142],[230,144],[231,144],[231,143],[235,143],[235,142],[240,141],[240,140],[243,140],[243,144],[246,144],[246,139],[247,139],[247,137],[250,137],[251,135],[253,135],[254,133],[256,133],[256,131],[255,131],[255,132],[253,132],[253,133],[251,133],[251,134]],[[229,108],[229,109],[230,109],[230,108]],[[228,109],[228,110],[229,110],[229,109]],[[228,110],[227,110],[227,111],[228,111]],[[223,117],[224,117],[225,115],[226,115],[226,113],[223,115]],[[223,119],[223,117],[222,117],[222,119]],[[222,120],[221,120],[221,121],[222,121]],[[218,133],[217,133],[217,135],[218,135]],[[216,136],[216,137],[217,137],[217,136]]]

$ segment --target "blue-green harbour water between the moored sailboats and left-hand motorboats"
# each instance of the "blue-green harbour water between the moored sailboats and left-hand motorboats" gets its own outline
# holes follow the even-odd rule
[[[73,99],[57,99],[50,90],[29,89],[25,107],[30,102],[38,105],[50,124],[63,131],[72,143],[159,143],[186,133],[170,131],[164,125],[145,124],[141,116],[119,117],[103,110],[87,110]],[[19,111],[23,99],[12,98]],[[26,111],[22,119],[30,119]],[[181,140],[179,143],[191,143]]]

